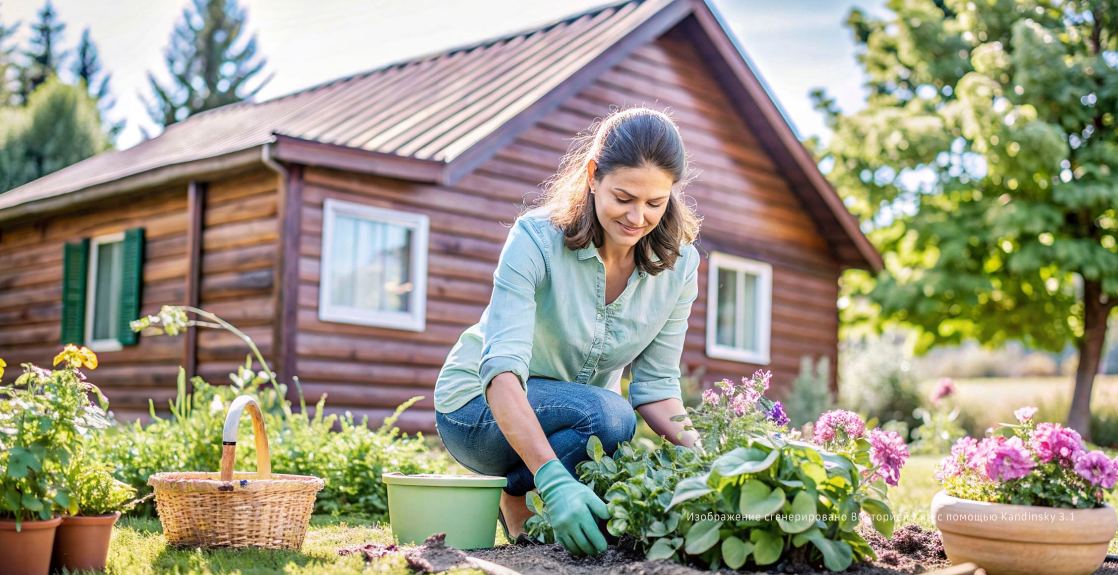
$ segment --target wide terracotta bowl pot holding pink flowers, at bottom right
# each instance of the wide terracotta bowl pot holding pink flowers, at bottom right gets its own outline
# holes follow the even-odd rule
[[[1109,505],[987,504],[946,491],[931,500],[931,521],[953,564],[974,562],[989,575],[1091,575],[1118,530],[1118,515]]]

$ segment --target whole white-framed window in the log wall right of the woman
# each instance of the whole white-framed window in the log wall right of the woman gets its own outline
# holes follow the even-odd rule
[[[773,266],[712,252],[707,278],[707,355],[768,365]]]

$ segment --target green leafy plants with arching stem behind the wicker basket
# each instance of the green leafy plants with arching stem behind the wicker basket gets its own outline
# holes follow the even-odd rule
[[[186,313],[196,313],[203,320],[190,320]],[[351,413],[325,414],[325,399],[307,409],[297,378],[300,410],[293,411],[286,399],[287,386],[275,381],[256,345],[244,333],[219,317],[196,308],[164,306],[158,316],[133,323],[133,329],[162,330],[177,335],[186,327],[224,328],[238,335],[253,351],[260,370],[255,370],[253,355],[229,374],[231,385],[214,385],[201,377],[190,380],[193,391],[187,393],[186,373],[179,372],[179,392],[170,401],[171,416],[159,418],[151,405],[152,422],[116,425],[106,430],[96,445],[98,458],[111,463],[117,478],[143,489],[148,477],[160,471],[216,471],[220,467],[225,411],[229,402],[241,394],[257,399],[264,412],[268,433],[272,469],[275,472],[312,475],[325,480],[315,500],[316,512],[366,514],[386,518],[388,498],[382,472],[440,473],[448,460],[430,451],[421,433],[409,438],[396,427],[400,414],[421,397],[413,397],[386,418],[377,429],[368,427],[368,418],[357,420]],[[151,332],[149,332],[151,333]],[[240,422],[244,437],[252,433],[252,422]],[[237,445],[238,469],[255,469],[255,444]],[[151,504],[141,508],[152,511]]]

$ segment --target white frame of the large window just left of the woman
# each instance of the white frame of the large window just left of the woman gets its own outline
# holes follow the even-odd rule
[[[330,303],[331,257],[330,246],[333,245],[334,222],[338,215],[373,220],[394,226],[410,228],[411,253],[410,269],[415,288],[409,297],[411,312],[379,312],[352,306],[339,306]],[[319,276],[319,319],[339,324],[367,325],[423,332],[427,328],[427,241],[430,229],[430,218],[423,213],[389,210],[375,205],[347,202],[326,198],[322,202],[322,251]]]

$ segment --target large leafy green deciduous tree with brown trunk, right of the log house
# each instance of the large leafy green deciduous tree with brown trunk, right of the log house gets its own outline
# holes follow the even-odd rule
[[[1118,2],[890,0],[847,26],[869,80],[819,147],[885,256],[847,271],[844,324],[919,329],[917,351],[975,338],[1080,352],[1070,427],[1118,304]],[[809,145],[817,146],[817,142]]]

